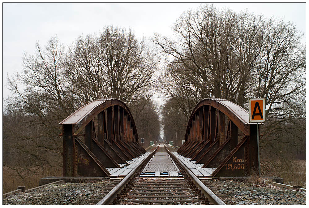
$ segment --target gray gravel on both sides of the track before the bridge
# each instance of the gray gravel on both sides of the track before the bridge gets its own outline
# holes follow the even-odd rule
[[[306,192],[268,183],[246,181],[205,181],[208,188],[227,205],[305,205]],[[86,205],[95,195],[105,196],[109,180],[88,183],[52,184],[29,193],[17,193],[2,200],[3,205]]]

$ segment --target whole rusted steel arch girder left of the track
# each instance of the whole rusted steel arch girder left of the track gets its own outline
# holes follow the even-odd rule
[[[108,177],[106,168],[120,168],[146,152],[138,142],[131,112],[115,98],[92,101],[60,124],[64,176]]]

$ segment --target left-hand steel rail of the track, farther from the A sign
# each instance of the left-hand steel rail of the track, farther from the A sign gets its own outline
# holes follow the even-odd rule
[[[159,144],[160,145],[160,144]],[[137,171],[139,170],[140,167],[142,167],[143,164],[145,164],[146,162],[148,162],[150,160],[150,158],[155,154],[155,152],[157,151],[159,145],[157,146],[157,148],[148,155],[147,158],[145,158],[141,163],[139,163],[134,169],[133,171],[131,171],[129,173],[129,175],[127,175],[126,177],[124,177],[108,194],[105,195],[105,197],[103,199],[101,199],[96,205],[109,205],[111,203],[113,203],[114,199],[117,198],[117,195],[120,194],[121,190],[123,190],[127,184],[129,183],[129,181],[134,177],[134,175],[137,173]]]

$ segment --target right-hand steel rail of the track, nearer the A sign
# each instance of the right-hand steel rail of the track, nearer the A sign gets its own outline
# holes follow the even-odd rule
[[[165,144],[164,144],[164,147],[165,147],[167,153],[170,154],[170,156],[181,165],[183,170],[185,170],[187,175],[191,178],[191,181],[193,181],[193,183],[201,190],[201,192],[204,194],[204,196],[206,198],[208,198],[208,200],[210,202],[212,202],[212,204],[214,204],[214,205],[226,205],[219,197],[217,197],[216,194],[214,194],[205,184],[203,184],[202,181],[200,181],[200,179],[198,179],[194,175],[194,173],[189,168],[187,168],[187,166],[185,166],[185,164],[183,164],[180,160],[178,160],[178,158],[176,158],[174,156],[174,154],[172,154],[170,152],[170,150],[168,150],[166,148]]]

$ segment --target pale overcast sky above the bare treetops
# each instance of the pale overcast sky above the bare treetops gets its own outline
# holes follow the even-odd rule
[[[70,45],[79,35],[97,33],[104,25],[132,28],[150,38],[154,32],[172,36],[170,26],[187,9],[200,3],[3,3],[3,97],[7,74],[21,71],[24,52],[33,54],[35,43],[44,46],[52,36]],[[235,12],[282,17],[296,24],[306,37],[305,3],[215,3]]]

